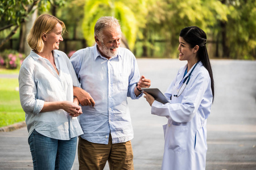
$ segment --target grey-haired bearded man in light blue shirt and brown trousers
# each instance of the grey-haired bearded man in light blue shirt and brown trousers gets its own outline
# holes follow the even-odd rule
[[[134,169],[133,127],[127,97],[139,99],[150,79],[139,75],[136,58],[121,48],[119,21],[112,16],[97,20],[94,46],[80,49],[71,57],[81,88],[74,95],[82,105],[79,138],[79,169]]]

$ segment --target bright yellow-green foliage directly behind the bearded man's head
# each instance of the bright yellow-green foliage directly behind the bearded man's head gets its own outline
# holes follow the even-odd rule
[[[143,16],[139,12],[145,10],[143,1],[122,0],[87,0],[84,6],[82,23],[84,38],[89,45],[94,44],[94,25],[101,16],[114,16],[121,23],[122,33],[128,41],[129,47],[134,48],[138,28],[144,26]],[[144,12],[141,12],[144,14]]]

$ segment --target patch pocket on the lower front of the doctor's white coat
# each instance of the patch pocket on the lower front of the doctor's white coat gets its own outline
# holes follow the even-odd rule
[[[188,126],[177,126],[171,124],[169,133],[168,148],[175,152],[185,152],[187,150]]]

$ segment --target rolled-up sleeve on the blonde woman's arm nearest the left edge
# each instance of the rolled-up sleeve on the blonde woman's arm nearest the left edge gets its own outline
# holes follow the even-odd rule
[[[37,90],[34,76],[26,65],[19,71],[19,97],[23,111],[27,114],[38,114],[44,106],[44,101],[36,99]]]

